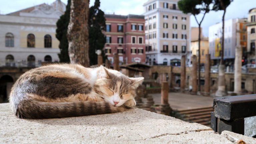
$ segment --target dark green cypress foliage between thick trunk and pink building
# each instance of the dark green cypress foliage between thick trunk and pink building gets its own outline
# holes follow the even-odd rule
[[[95,53],[96,50],[103,50],[106,43],[105,35],[102,31],[105,31],[106,19],[104,17],[104,12],[100,10],[100,1],[95,0],[94,6],[90,7],[89,10],[89,58],[90,65],[97,64],[98,56]],[[101,53],[103,57],[103,63],[105,62],[105,52]]]

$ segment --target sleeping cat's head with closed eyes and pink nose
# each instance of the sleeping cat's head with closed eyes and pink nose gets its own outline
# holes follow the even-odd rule
[[[100,67],[100,76],[96,80],[95,92],[102,95],[111,105],[119,107],[136,96],[136,88],[144,78],[129,78],[122,73]]]

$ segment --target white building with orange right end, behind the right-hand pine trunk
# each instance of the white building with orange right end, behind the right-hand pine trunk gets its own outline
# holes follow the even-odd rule
[[[246,23],[247,19],[229,19],[224,27],[224,61],[225,64],[233,64],[237,43],[243,51],[246,50]],[[209,27],[209,54],[215,64],[221,58],[222,22]]]

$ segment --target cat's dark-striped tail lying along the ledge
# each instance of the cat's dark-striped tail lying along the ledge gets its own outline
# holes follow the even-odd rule
[[[15,115],[24,119],[45,119],[115,113],[125,111],[125,109],[125,107],[114,107],[105,101],[42,102],[23,100],[18,104]]]

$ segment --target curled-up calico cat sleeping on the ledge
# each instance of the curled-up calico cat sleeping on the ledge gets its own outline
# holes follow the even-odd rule
[[[144,78],[106,69],[54,64],[24,73],[13,85],[11,108],[19,118],[41,119],[122,112],[136,105]]]

